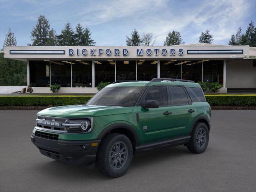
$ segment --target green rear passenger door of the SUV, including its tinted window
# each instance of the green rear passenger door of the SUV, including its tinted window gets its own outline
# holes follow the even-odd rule
[[[171,95],[171,104],[174,107],[174,136],[190,134],[190,122],[194,118],[196,106],[192,103],[183,86],[168,86]]]

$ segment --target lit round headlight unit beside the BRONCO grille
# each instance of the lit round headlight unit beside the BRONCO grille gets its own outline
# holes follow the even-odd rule
[[[89,132],[91,129],[91,122],[89,119],[70,119],[62,125],[66,127],[68,132]]]

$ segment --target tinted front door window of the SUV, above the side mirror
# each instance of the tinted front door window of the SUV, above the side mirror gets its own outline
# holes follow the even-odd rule
[[[155,86],[152,87],[146,94],[145,101],[147,100],[157,100],[159,106],[168,105],[168,96],[165,86]]]

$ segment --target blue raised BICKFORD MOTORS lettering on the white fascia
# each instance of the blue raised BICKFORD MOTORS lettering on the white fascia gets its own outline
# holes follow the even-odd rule
[[[102,49],[102,48],[91,48],[91,49],[86,49],[86,48],[82,48],[82,49],[68,49],[68,55],[69,56],[101,56],[102,54],[106,55],[106,56],[128,56],[129,51],[128,49],[120,49],[120,48],[106,48],[106,49]],[[147,49],[142,49],[142,48],[137,48],[136,49],[136,56],[143,56],[144,54],[146,54],[147,56],[158,56],[158,55],[162,55],[162,56],[166,56],[166,55],[170,55],[170,56],[175,56],[176,54],[182,56],[184,54],[184,50],[182,48],[175,50],[173,48],[147,48]]]

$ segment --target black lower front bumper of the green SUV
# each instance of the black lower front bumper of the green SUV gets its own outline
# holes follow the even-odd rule
[[[31,141],[37,146],[40,153],[71,164],[90,165],[96,159],[96,153],[100,140],[87,141],[68,141],[68,140],[50,140],[40,138],[32,134]],[[92,143],[98,143],[92,146]],[[95,144],[94,144],[95,145]]]

